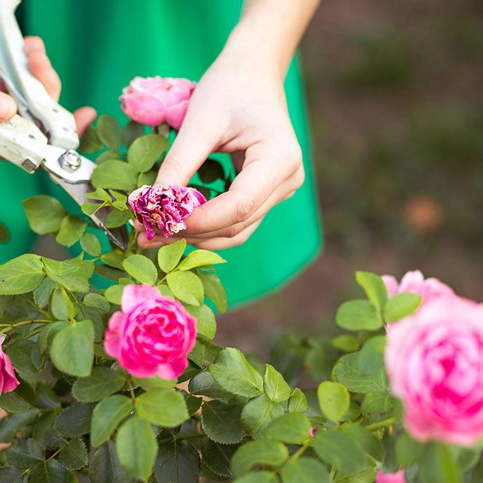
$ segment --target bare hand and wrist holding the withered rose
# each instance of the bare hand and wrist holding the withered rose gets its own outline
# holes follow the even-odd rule
[[[237,177],[228,192],[195,210],[176,242],[208,250],[242,244],[270,208],[304,181],[302,153],[288,117],[284,77],[319,0],[246,0],[242,19],[199,81],[157,183],[186,186],[212,152],[228,152]],[[141,224],[136,229],[143,232]]]

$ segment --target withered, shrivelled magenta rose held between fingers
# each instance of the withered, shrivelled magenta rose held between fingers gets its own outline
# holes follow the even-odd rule
[[[166,237],[186,229],[186,219],[206,198],[195,188],[173,184],[148,186],[145,184],[129,195],[129,206],[139,223],[146,228],[146,237],[152,240],[155,228]]]

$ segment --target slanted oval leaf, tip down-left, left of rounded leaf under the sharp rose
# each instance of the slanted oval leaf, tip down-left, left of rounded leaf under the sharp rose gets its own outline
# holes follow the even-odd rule
[[[90,444],[97,447],[106,442],[131,411],[132,402],[123,395],[116,394],[99,402],[92,411]]]

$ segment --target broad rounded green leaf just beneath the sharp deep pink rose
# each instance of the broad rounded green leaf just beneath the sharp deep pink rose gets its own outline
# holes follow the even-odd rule
[[[136,398],[136,413],[159,426],[174,428],[188,419],[184,397],[176,391],[153,389]]]

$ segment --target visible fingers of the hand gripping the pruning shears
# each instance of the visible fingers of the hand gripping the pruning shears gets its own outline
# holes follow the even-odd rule
[[[28,68],[41,81],[48,94],[55,101],[59,100],[61,81],[50,64],[46,48],[40,37],[26,37],[24,49],[27,55]],[[17,103],[6,92],[0,91],[0,122],[8,121],[17,113]],[[96,112],[90,107],[83,107],[74,112],[79,136],[94,121]]]

